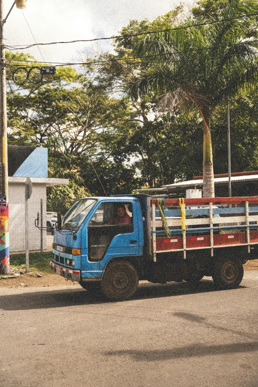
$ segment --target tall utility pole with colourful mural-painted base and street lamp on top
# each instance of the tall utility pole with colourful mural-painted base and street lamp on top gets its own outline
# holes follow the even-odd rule
[[[6,63],[3,26],[9,13],[26,7],[26,0],[15,0],[7,16],[3,18],[3,0],[0,0],[0,273],[9,273],[9,215],[8,215],[8,159],[7,159],[7,112],[6,112]]]

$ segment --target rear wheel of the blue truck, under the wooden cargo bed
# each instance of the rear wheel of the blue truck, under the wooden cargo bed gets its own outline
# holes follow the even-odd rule
[[[239,258],[221,257],[214,263],[213,280],[216,289],[234,289],[243,279],[244,268]]]

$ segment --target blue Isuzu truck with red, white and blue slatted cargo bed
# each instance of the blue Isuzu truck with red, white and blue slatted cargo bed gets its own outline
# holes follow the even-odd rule
[[[52,253],[55,273],[113,301],[129,299],[139,280],[196,286],[212,276],[232,289],[258,258],[258,197],[79,199],[58,214]]]

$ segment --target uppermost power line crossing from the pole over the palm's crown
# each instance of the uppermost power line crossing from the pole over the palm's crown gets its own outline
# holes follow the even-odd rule
[[[23,49],[34,47],[35,45],[67,44],[67,43],[78,43],[78,42],[95,42],[95,41],[102,41],[102,40],[130,38],[130,37],[141,36],[141,35],[160,34],[162,32],[168,32],[168,31],[185,30],[185,29],[192,28],[192,27],[207,26],[207,25],[211,25],[211,24],[215,24],[215,23],[222,23],[222,22],[225,22],[225,21],[238,20],[238,19],[242,19],[244,17],[257,16],[257,15],[258,15],[258,12],[254,12],[254,13],[243,14],[241,16],[236,16],[236,17],[232,17],[232,18],[226,18],[226,19],[221,19],[221,20],[214,20],[212,22],[196,23],[196,24],[191,24],[191,25],[186,25],[186,26],[181,26],[181,27],[168,28],[168,29],[159,30],[159,31],[147,31],[147,32],[139,32],[137,34],[117,35],[117,36],[112,36],[112,37],[109,37],[109,38],[80,39],[80,40],[67,41],[67,42],[35,43],[35,44],[29,44],[29,45],[20,44],[20,45],[16,45],[16,46],[5,45],[5,48],[7,48],[9,50],[16,50],[16,49],[23,50]]]

